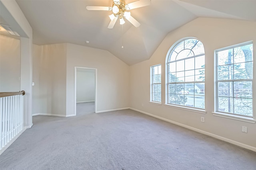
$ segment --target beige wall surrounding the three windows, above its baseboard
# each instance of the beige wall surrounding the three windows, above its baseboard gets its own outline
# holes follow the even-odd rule
[[[217,18],[197,18],[170,32],[156,49],[150,60],[130,66],[130,107],[238,143],[256,147],[256,124],[217,117],[212,114],[214,111],[214,50],[253,40],[254,51],[256,51],[255,31],[255,22]],[[176,41],[184,37],[196,37],[202,41],[205,47],[206,114],[164,106],[166,93],[164,75],[162,76],[162,106],[149,103],[150,66],[162,64],[162,73],[164,73],[166,66],[165,59],[168,50]],[[255,59],[256,55],[254,53],[254,60]],[[255,63],[254,68],[256,68]],[[256,69],[254,69],[254,75],[255,74]],[[255,79],[253,90],[256,91]],[[254,93],[253,97],[256,98],[256,93]],[[256,106],[255,100],[254,106]],[[254,115],[255,114],[256,113],[254,113]],[[205,123],[200,122],[201,116],[205,117]],[[248,127],[248,133],[241,132],[242,126]]]

